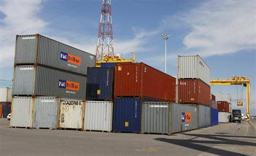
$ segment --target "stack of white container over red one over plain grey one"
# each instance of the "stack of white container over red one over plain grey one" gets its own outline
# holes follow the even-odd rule
[[[199,55],[178,56],[179,103],[199,104],[199,127],[210,125],[210,68]]]

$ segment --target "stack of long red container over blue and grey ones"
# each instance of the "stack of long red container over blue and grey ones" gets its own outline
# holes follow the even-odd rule
[[[166,112],[168,103],[175,102],[175,88],[174,77],[151,66],[116,64],[113,131],[169,133]],[[160,118],[156,120],[154,116]],[[159,125],[159,121],[164,123]]]

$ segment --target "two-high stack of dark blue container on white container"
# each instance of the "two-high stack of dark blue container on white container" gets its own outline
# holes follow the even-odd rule
[[[114,68],[88,68],[85,130],[112,131]]]

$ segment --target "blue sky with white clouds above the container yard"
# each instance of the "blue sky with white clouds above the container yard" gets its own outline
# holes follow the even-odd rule
[[[101,3],[1,1],[1,79],[13,79],[16,34],[41,33],[95,53]],[[138,62],[163,71],[160,33],[170,33],[167,73],[177,73],[177,55],[200,54],[210,66],[212,78],[251,75],[251,113],[256,115],[255,10],[255,1],[112,1],[114,53],[130,58],[135,51]],[[11,84],[1,81],[0,85]],[[236,86],[212,87],[213,94],[220,91],[232,94],[236,108]]]

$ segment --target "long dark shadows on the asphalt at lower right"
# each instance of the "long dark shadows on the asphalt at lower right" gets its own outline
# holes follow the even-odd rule
[[[185,134],[187,136],[191,136],[194,138],[207,138],[211,140],[180,140],[180,139],[171,139],[171,138],[155,138],[155,140],[167,142],[169,144],[179,145],[183,147],[187,147],[189,149],[195,149],[203,152],[208,152],[211,154],[216,155],[246,155],[241,153],[236,153],[234,151],[229,150],[223,150],[223,149],[217,149],[214,147],[205,146],[205,144],[222,144],[225,146],[233,146],[233,145],[240,145],[240,146],[256,146],[256,143],[254,142],[246,142],[246,141],[238,141],[238,140],[232,140],[225,137],[240,137],[240,138],[256,138],[256,137],[249,137],[249,136],[228,136],[228,135],[209,135],[209,134]]]

